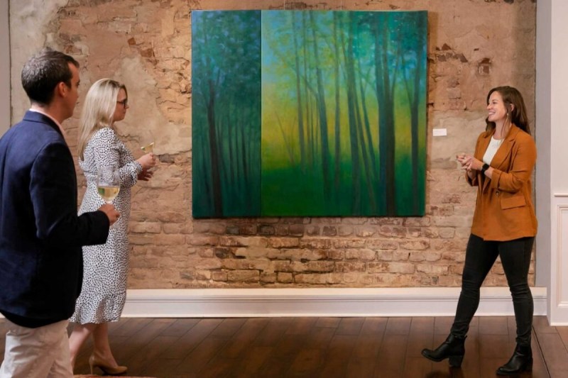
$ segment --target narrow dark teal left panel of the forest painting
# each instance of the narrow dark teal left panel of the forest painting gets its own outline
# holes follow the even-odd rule
[[[261,12],[192,11],[193,216],[261,213]]]

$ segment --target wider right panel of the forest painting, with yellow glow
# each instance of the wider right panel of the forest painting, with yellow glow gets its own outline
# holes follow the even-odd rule
[[[262,11],[263,216],[425,213],[427,12]]]

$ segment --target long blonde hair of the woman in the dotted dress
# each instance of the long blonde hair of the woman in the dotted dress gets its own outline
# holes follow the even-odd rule
[[[84,159],[84,149],[94,133],[102,128],[112,127],[116,99],[121,89],[124,89],[128,98],[129,92],[126,91],[126,86],[113,79],[100,79],[89,88],[79,124],[77,148],[81,160]]]

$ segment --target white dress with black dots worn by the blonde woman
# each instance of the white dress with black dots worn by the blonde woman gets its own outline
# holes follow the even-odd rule
[[[109,231],[106,244],[83,247],[83,286],[75,304],[75,313],[70,318],[70,321],[80,324],[118,321],[126,301],[130,188],[136,184],[142,167],[112,128],[98,130],[84,150],[84,160],[79,161],[87,179],[87,190],[79,213],[96,211],[104,204],[97,193],[97,168],[113,164],[120,167],[120,192],[112,201],[120,218]]]

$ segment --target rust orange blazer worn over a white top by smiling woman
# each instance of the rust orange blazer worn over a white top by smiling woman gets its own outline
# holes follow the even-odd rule
[[[474,156],[483,160],[491,135],[485,131],[477,138]],[[497,150],[491,179],[477,172],[469,184],[477,188],[471,233],[484,240],[514,240],[537,233],[535,206],[532,204],[532,169],[537,149],[532,137],[512,125]]]

